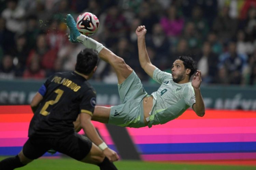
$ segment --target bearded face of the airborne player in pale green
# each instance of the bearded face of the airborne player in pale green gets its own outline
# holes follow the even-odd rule
[[[172,80],[175,83],[179,83],[185,79],[186,69],[181,60],[175,60],[172,65]]]

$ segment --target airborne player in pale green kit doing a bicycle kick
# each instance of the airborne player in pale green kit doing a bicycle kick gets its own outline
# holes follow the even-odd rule
[[[145,26],[136,29],[140,65],[150,77],[161,84],[151,95],[145,92],[136,73],[122,58],[99,42],[82,35],[76,29],[76,23],[70,14],[67,16],[67,25],[72,43],[80,42],[87,48],[96,49],[99,57],[111,64],[117,74],[122,104],[111,107],[96,106],[92,120],[139,128],[164,124],[179,117],[189,107],[198,116],[204,115],[205,108],[200,92],[201,72],[197,70],[195,61],[191,57],[180,56],[172,64],[172,74],[160,71],[148,57]],[[194,73],[196,74],[190,82]]]

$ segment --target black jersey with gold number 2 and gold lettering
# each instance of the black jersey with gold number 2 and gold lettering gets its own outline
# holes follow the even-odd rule
[[[46,93],[30,122],[29,137],[60,137],[74,133],[73,122],[78,114],[93,114],[96,92],[79,73],[56,73],[44,86]]]

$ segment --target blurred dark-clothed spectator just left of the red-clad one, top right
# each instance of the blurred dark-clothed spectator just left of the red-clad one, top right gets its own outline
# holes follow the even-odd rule
[[[216,17],[213,23],[213,31],[224,43],[230,41],[237,31],[237,19],[232,19],[229,16],[229,7],[224,6],[219,11],[219,16]]]

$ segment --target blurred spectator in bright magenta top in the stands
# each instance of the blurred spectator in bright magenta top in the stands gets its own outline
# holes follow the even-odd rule
[[[160,19],[160,23],[168,36],[179,36],[184,26],[184,19],[177,14],[176,7],[171,5],[166,15]]]

